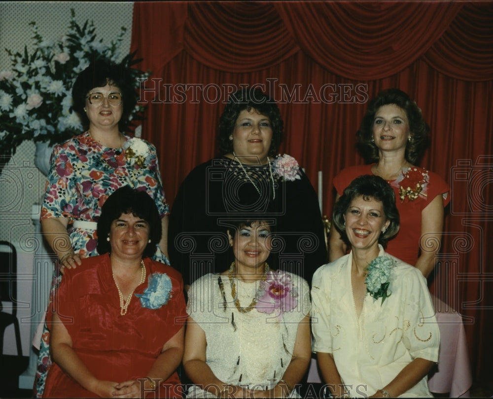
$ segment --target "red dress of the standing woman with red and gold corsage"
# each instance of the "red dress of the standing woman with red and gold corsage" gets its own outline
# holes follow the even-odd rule
[[[338,194],[342,195],[344,189],[354,178],[361,175],[372,175],[372,166],[356,165],[343,169],[333,180]],[[450,187],[440,176],[426,169],[412,167],[411,172],[409,179],[406,179],[406,174],[404,174],[396,180],[387,181],[395,193],[395,203],[400,216],[400,228],[397,235],[388,242],[385,251],[414,266],[419,256],[421,212],[437,195],[442,195],[443,206],[445,207],[450,202]],[[404,180],[401,182],[402,179]],[[417,198],[411,200],[406,196],[404,200],[401,200],[400,185],[405,187],[411,185],[414,188],[416,183],[421,183],[423,186],[423,190]]]

